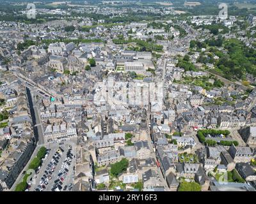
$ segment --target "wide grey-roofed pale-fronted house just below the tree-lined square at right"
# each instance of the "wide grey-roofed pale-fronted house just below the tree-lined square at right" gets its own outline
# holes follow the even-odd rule
[[[233,144],[228,152],[236,163],[246,163],[253,159],[253,150],[250,147],[236,147]]]

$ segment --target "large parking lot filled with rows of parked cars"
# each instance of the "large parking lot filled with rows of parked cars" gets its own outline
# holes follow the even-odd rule
[[[48,146],[48,153],[29,191],[70,191],[74,182],[75,145],[61,142]]]

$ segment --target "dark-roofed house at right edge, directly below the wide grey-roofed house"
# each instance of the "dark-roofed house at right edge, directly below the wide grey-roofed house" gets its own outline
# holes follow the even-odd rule
[[[256,172],[249,163],[236,163],[236,170],[246,181],[256,180]]]

